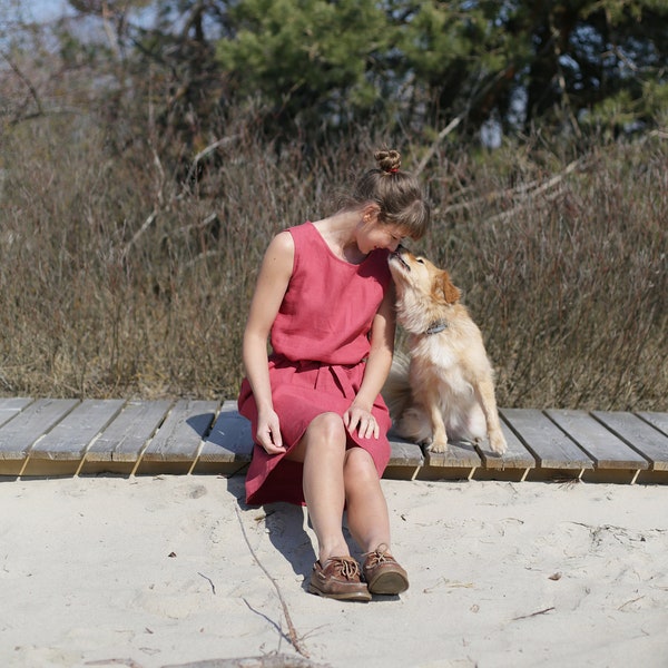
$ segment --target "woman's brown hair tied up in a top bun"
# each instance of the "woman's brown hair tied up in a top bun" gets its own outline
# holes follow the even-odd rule
[[[380,208],[381,223],[397,225],[412,239],[422,238],[429,227],[431,210],[418,179],[401,169],[397,150],[377,150],[374,158],[379,167],[357,179],[347,205],[372,202]]]

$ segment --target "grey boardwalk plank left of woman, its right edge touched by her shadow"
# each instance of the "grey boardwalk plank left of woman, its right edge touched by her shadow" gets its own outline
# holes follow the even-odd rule
[[[179,400],[146,446],[138,472],[183,470],[184,466],[190,471],[217,410],[215,401]],[[166,466],[167,463],[176,466]]]

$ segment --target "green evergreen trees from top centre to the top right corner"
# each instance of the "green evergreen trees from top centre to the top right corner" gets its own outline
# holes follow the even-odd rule
[[[642,89],[666,80],[666,19],[650,0],[248,0],[217,52],[235,95],[259,92],[287,124],[372,118],[382,101],[423,131],[462,112],[472,131],[491,116],[507,130],[572,125],[622,90],[631,120],[651,122]]]

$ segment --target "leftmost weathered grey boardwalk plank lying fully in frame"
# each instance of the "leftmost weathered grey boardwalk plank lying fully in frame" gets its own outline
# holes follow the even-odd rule
[[[30,451],[30,459],[80,461],[91,441],[124,404],[121,399],[86,399]]]

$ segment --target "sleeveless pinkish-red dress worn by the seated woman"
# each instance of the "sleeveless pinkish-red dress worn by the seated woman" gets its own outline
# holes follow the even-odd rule
[[[314,418],[340,415],[350,407],[370,352],[372,321],[390,285],[389,252],[376,249],[358,265],[334,255],[312,223],[288,229],[295,245],[293,274],[271,332],[269,381],[283,444],[289,451]],[[247,379],[238,410],[257,431],[257,406]],[[348,432],[348,448],[364,448],[379,477],[390,460],[390,414],[379,395],[372,409],[377,439]],[[250,504],[288,501],[304,504],[303,464],[267,454],[255,444],[246,475]]]

